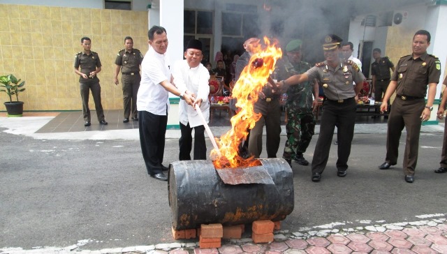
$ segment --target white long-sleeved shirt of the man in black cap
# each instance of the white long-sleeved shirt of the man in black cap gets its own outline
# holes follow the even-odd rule
[[[210,120],[210,101],[208,95],[210,94],[210,72],[200,63],[196,68],[190,68],[186,60],[179,60],[175,62],[173,69],[174,84],[180,91],[190,91],[196,95],[196,98],[202,99],[203,117],[208,123]],[[179,121],[183,125],[188,125],[191,128],[203,125],[198,112],[188,105],[184,100],[179,103]]]

